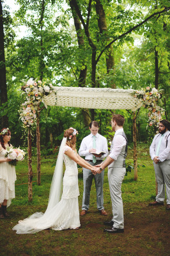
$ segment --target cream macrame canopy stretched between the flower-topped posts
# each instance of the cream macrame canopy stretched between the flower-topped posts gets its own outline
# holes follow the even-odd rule
[[[134,97],[135,90],[111,88],[81,88],[54,86],[54,91],[43,97],[47,106],[63,106],[91,109],[131,109],[142,106],[140,99]],[[55,93],[56,92],[56,93]]]

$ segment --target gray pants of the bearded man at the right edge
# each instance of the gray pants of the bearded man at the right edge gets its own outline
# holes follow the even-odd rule
[[[166,196],[167,204],[170,204],[170,160],[164,162],[153,162],[155,175],[158,183],[158,195],[156,196],[157,202],[164,202],[165,199],[165,184],[166,184]]]

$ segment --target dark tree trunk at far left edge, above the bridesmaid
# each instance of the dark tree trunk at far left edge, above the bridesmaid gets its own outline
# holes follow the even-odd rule
[[[0,1],[0,92],[1,106],[7,102],[6,66],[4,58],[4,28],[3,28],[3,6]],[[8,106],[6,106],[8,108]],[[1,116],[1,128],[8,127],[8,116]]]

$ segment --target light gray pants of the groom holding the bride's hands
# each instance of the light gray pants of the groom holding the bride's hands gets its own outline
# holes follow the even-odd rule
[[[121,184],[125,173],[126,168],[108,168],[109,189],[112,200],[112,221],[114,221],[113,227],[115,228],[124,228]]]

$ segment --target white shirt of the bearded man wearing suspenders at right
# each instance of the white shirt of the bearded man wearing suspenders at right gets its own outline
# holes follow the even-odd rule
[[[164,137],[162,138],[162,141],[160,143],[160,148],[159,148],[159,153],[158,153],[158,159],[160,162],[170,159],[170,135],[169,134],[170,134],[170,131],[166,131],[164,133]],[[169,135],[169,137],[167,139],[168,135]],[[158,141],[160,140],[160,138],[161,138],[161,134],[155,135],[155,137],[153,138],[153,141],[150,145],[150,156],[151,156],[152,160],[156,156]],[[167,141],[167,147],[166,147],[166,141]]]

